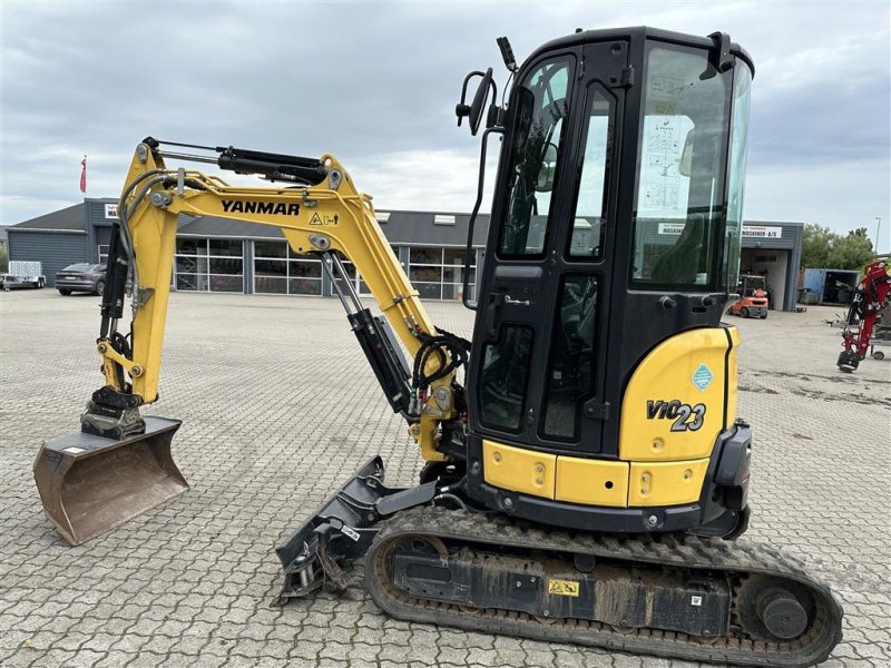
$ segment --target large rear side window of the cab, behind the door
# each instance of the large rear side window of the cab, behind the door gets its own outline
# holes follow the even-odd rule
[[[704,49],[647,46],[631,262],[637,287],[717,283],[732,79],[733,69],[718,72]]]

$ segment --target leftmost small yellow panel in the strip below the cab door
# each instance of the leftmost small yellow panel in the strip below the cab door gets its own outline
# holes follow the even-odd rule
[[[482,442],[486,481],[506,490],[554,499],[557,455]]]

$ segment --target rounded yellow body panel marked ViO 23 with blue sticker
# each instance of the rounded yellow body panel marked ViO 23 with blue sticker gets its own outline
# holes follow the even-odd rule
[[[731,328],[733,330],[733,328]],[[621,402],[619,459],[687,461],[708,456],[724,430],[726,328],[682,332],[637,366]],[[733,387],[735,407],[735,382]]]

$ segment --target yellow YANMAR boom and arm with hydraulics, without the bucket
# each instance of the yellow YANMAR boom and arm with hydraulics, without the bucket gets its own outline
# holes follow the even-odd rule
[[[276,227],[295,253],[321,256],[391,406],[409,421],[409,431],[419,442],[422,456],[428,461],[444,460],[437,450],[438,428],[442,420],[456,414],[453,351],[460,344],[457,337],[437,332],[381,232],[371,197],[356,190],[337,159],[331,155],[313,160],[214,149],[221,154],[216,161],[223,168],[290,183],[282,187],[244,187],[229,186],[197,170],[168,169],[165,156],[206,158],[165,153],[160,146],[151,138],[139,144],[118,206],[120,222],[109,248],[109,288],[102,298],[97,342],[106,384],[94,395],[84,423],[106,435],[111,416],[117,435],[138,431],[137,419],[121,422],[114,413],[133,411],[158,397],[179,216],[214,216]],[[340,255],[355,265],[386,324],[362,307],[349,282],[337,279],[343,276]],[[129,267],[133,322],[130,334],[125,336],[117,328]],[[412,358],[421,357],[423,369],[409,374],[391,333]],[[131,379],[129,383],[127,377]]]

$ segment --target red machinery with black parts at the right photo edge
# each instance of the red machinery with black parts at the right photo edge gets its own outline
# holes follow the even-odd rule
[[[882,312],[891,305],[891,276],[883,261],[866,265],[863,278],[848,312],[848,321],[842,332],[844,351],[839,355],[839,369],[851,373],[866,356],[873,328],[882,317]],[[885,327],[887,328],[887,327]]]

